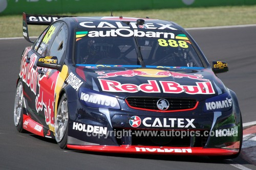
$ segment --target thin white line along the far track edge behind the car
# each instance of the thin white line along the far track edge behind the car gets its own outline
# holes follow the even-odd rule
[[[218,26],[218,27],[186,28],[185,30],[210,30],[210,29],[243,28],[243,27],[256,27],[256,24],[237,25],[237,26]],[[11,38],[0,38],[0,40],[23,39],[23,38],[24,38],[24,37],[11,37]],[[30,38],[37,38],[37,37],[30,37]]]

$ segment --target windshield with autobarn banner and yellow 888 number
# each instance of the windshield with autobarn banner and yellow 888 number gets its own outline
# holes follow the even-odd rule
[[[146,67],[203,67],[191,42],[181,31],[88,29],[76,32],[77,65],[140,67],[140,57]]]

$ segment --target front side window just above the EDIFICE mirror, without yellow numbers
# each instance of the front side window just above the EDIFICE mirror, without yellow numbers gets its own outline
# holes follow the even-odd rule
[[[56,56],[58,58],[58,62],[66,50],[68,42],[68,27],[66,24],[63,24],[56,38],[54,39],[48,56]]]

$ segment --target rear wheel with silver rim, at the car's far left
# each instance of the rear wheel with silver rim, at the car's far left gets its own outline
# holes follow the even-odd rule
[[[14,102],[14,125],[18,132],[26,132],[23,129],[23,85],[22,80],[18,81],[16,92],[15,92],[15,102]]]

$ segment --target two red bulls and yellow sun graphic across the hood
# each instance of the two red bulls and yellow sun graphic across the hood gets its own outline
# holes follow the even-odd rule
[[[134,77],[134,76],[143,76],[143,77],[173,77],[173,78],[188,78],[200,81],[209,81],[208,79],[203,79],[203,76],[200,74],[184,74],[174,71],[165,71],[160,69],[129,69],[125,71],[116,71],[116,72],[104,72],[96,71],[98,75],[97,78],[112,78],[117,76],[122,77]]]

